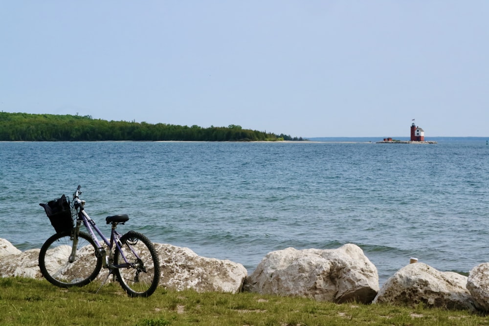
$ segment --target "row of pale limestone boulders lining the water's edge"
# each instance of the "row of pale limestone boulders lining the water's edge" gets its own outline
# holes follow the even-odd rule
[[[355,244],[337,249],[286,248],[268,253],[251,275],[240,263],[200,257],[189,248],[155,243],[161,262],[159,285],[197,292],[250,291],[300,296],[317,301],[398,305],[424,304],[446,309],[489,311],[489,262],[468,277],[441,272],[422,262],[402,267],[379,288],[377,267]],[[42,279],[40,249],[24,252],[0,239],[0,277]],[[102,270],[97,280],[103,280]]]

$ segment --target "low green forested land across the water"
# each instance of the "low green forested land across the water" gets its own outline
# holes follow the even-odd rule
[[[0,112],[0,141],[282,141],[301,137],[243,129],[107,121],[89,115]]]

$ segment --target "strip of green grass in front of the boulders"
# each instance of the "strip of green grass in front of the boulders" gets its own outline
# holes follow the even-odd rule
[[[129,298],[117,283],[62,289],[24,278],[0,278],[0,325],[489,325],[468,311],[387,304],[333,304],[255,293],[197,293],[156,290]]]

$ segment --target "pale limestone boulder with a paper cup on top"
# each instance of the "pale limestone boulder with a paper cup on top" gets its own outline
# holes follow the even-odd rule
[[[477,304],[466,287],[467,277],[440,272],[422,262],[409,264],[389,278],[373,303],[475,310]]]

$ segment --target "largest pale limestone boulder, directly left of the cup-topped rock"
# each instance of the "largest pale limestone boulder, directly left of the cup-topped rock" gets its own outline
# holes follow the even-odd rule
[[[377,268],[355,244],[270,252],[245,283],[251,292],[337,303],[370,303],[378,289]]]

